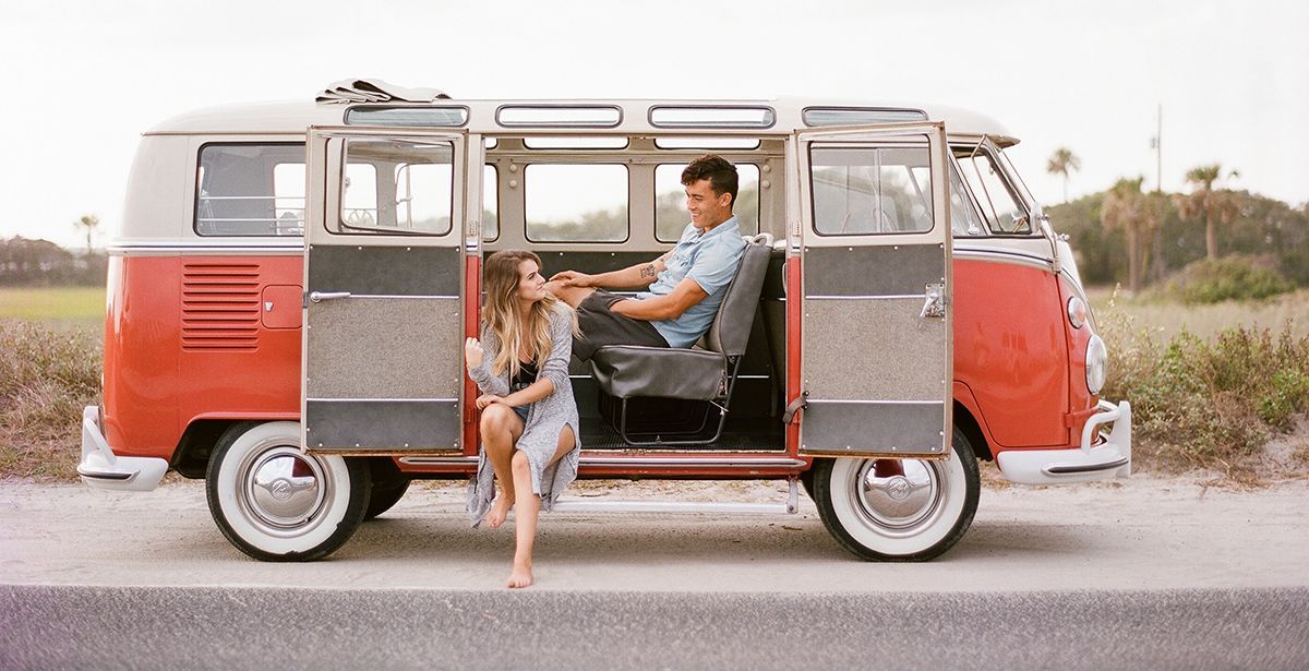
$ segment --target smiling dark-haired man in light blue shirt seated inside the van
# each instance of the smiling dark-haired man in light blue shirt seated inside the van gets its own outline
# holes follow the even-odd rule
[[[682,170],[682,185],[691,223],[669,253],[611,273],[564,270],[550,278],[546,290],[577,311],[577,358],[588,360],[605,345],[690,347],[709,330],[745,250],[732,215],[737,170],[704,155]],[[605,288],[645,291],[624,299]]]

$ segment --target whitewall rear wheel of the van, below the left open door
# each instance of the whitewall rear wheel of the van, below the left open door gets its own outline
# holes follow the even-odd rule
[[[240,423],[206,472],[209,512],[228,541],[262,561],[313,561],[364,520],[372,477],[363,459],[300,452],[296,422]]]

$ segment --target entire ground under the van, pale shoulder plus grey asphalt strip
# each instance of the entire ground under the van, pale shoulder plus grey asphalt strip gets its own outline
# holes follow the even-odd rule
[[[0,670],[1309,668],[1305,501],[1306,482],[987,489],[953,550],[910,565],[855,561],[808,499],[556,514],[538,585],[509,592],[512,531],[470,529],[461,488],[419,488],[327,561],[287,565],[228,545],[196,484],[0,482]]]

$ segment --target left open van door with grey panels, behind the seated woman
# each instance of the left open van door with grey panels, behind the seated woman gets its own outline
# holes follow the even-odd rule
[[[480,143],[470,149],[467,139],[310,128],[306,450],[461,451],[466,311],[476,317],[476,303],[467,308],[462,296],[466,256],[479,254],[478,218],[466,211],[480,203],[483,161]]]

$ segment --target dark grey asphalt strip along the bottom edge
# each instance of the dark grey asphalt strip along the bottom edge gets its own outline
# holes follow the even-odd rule
[[[1309,590],[0,586],[0,668],[1305,668]]]

